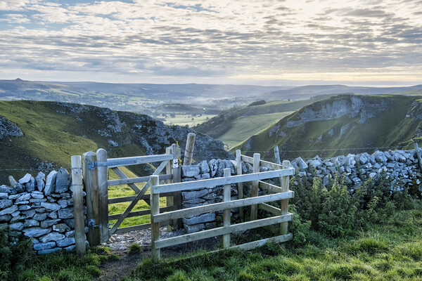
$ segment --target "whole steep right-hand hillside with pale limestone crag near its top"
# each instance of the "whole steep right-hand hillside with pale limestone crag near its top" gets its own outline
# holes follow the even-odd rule
[[[279,145],[281,156],[292,159],[410,147],[411,138],[422,136],[420,98],[332,97],[302,107],[236,148],[251,151],[250,155],[252,151],[267,152],[272,157],[272,149]]]

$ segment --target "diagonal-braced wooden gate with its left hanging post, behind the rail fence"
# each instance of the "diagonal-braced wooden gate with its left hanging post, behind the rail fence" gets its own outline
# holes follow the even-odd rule
[[[132,211],[139,200],[144,200],[151,206],[150,196],[146,195],[151,187],[150,176],[129,178],[119,167],[136,164],[148,164],[160,162],[160,165],[153,172],[160,180],[167,180],[167,183],[180,181],[180,166],[177,145],[166,149],[163,155],[146,155],[138,157],[107,158],[106,150],[102,148],[94,152],[87,152],[83,157],[85,190],[87,192],[87,220],[89,232],[87,240],[89,244],[98,245],[107,242],[113,234],[127,233],[134,230],[151,228],[151,223],[144,223],[137,226],[120,228],[124,218],[143,216],[151,214],[151,209]],[[108,169],[111,169],[120,177],[117,180],[108,180]],[[165,174],[162,174],[165,171]],[[138,188],[135,183],[145,183]],[[111,185],[129,185],[136,193],[134,196],[108,198],[108,187]],[[167,206],[160,208],[160,211],[172,211],[181,208],[180,192],[162,193],[161,197],[167,197]],[[108,205],[120,202],[131,202],[122,214],[108,214]],[[110,227],[109,221],[117,220]],[[163,222],[170,227],[177,228],[180,220]]]

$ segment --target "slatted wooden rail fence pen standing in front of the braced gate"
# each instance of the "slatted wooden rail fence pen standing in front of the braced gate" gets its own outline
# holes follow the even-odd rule
[[[255,155],[254,155],[255,156]],[[255,163],[260,164],[259,157],[254,157]],[[246,159],[246,158],[245,158]],[[239,162],[238,162],[239,163]],[[210,178],[200,181],[189,181],[184,183],[172,183],[159,185],[158,176],[151,176],[151,244],[152,244],[152,258],[154,261],[160,259],[160,249],[163,247],[170,247],[181,243],[202,240],[208,237],[215,237],[217,235],[223,235],[223,247],[230,247],[230,234],[238,231],[249,230],[252,228],[259,228],[263,226],[270,226],[275,223],[281,223],[281,228],[287,224],[288,221],[293,219],[293,214],[286,212],[284,214],[283,208],[279,209],[268,204],[266,202],[272,201],[281,201],[287,202],[289,198],[292,198],[294,193],[290,190],[284,190],[284,188],[277,187],[276,185],[271,185],[269,183],[264,183],[261,180],[268,178],[283,178],[283,183],[286,183],[290,176],[294,174],[295,169],[289,168],[290,162],[284,163],[284,169],[280,169],[283,166],[274,164],[270,162],[262,162],[265,166],[276,167],[276,171],[267,171],[267,172],[257,172],[253,174],[245,174],[238,176],[230,176],[230,169],[224,169],[223,178]],[[241,166],[238,164],[238,170],[241,169]],[[256,170],[256,167],[255,169]],[[258,168],[259,171],[259,168]],[[250,198],[240,198],[238,200],[230,200],[230,190],[232,183],[245,183],[245,182],[256,182],[256,188],[258,185],[264,186],[267,190],[271,192],[276,192],[272,195],[263,195]],[[194,190],[197,188],[214,188],[217,185],[224,185],[224,202],[209,204],[205,206],[192,207],[188,209],[181,209],[176,211],[169,211],[165,214],[160,214],[159,208],[159,198],[161,192],[176,192],[181,190]],[[277,216],[271,218],[262,218],[256,219],[256,216],[252,216],[251,221],[237,223],[235,225],[230,225],[230,209],[236,207],[245,207],[245,206],[259,206],[258,204],[264,204],[263,209],[267,209],[271,214],[276,214]],[[208,213],[211,211],[222,211],[224,210],[224,223],[222,227],[213,228],[210,230],[203,230],[198,233],[190,233],[186,235],[181,235],[178,237],[172,237],[167,239],[160,240],[160,223],[165,221],[172,220],[174,218],[181,218],[184,216],[192,216],[203,213]],[[282,230],[281,230],[282,231]],[[240,249],[253,249],[255,247],[260,247],[262,244],[265,244],[268,241],[278,241],[284,242],[291,240],[293,235],[291,233],[283,233],[281,235],[272,237],[266,240],[259,240],[255,242],[250,242],[246,244],[241,244],[234,246]]]

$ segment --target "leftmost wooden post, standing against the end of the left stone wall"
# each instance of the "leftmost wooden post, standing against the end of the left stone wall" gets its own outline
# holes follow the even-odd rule
[[[72,197],[75,219],[76,254],[85,254],[84,196],[82,195],[82,160],[79,155],[72,156]]]

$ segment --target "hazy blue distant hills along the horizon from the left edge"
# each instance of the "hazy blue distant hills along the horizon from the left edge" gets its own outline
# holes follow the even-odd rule
[[[162,104],[185,103],[222,110],[236,103],[249,103],[248,96],[289,88],[291,86],[113,84],[15,79],[0,80],[0,100],[60,101],[153,115],[155,107]]]

